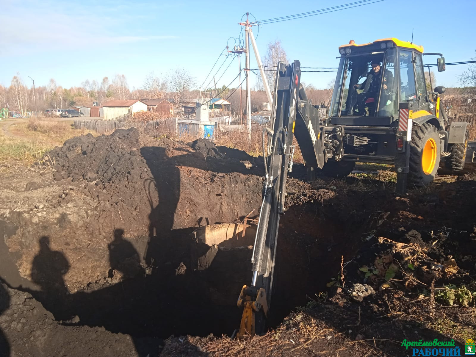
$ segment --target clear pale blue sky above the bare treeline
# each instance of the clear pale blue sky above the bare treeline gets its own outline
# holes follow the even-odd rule
[[[180,67],[188,69],[199,86],[228,38],[238,37],[238,22],[246,11],[265,20],[348,2],[2,0],[0,84],[10,85],[17,72],[28,86],[30,76],[37,86],[54,78],[66,88],[85,79],[100,82],[104,76],[124,74],[132,89],[140,88],[149,72],[160,76]],[[385,0],[260,26],[258,50],[263,57],[268,42],[280,40],[288,59],[300,60],[301,66],[336,67],[339,45],[387,37],[410,40],[414,28],[414,42],[426,52],[442,52],[446,62],[469,60],[476,49],[471,35],[475,10],[471,0]],[[256,34],[258,28],[253,31]],[[233,40],[228,43],[233,46]],[[238,74],[237,62],[217,86],[228,85]],[[256,68],[254,59],[251,66]],[[456,76],[466,68],[448,66],[446,72],[436,72],[437,84],[458,85]],[[221,71],[217,79],[220,75]],[[334,77],[335,73],[303,73],[301,80],[326,88]]]

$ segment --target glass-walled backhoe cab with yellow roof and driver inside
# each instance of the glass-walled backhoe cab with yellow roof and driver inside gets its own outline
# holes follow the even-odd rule
[[[377,40],[364,45],[350,41],[339,47],[337,80],[330,109],[331,123],[391,125],[398,119],[400,102],[415,102],[428,109],[423,48],[397,39]],[[374,69],[378,66],[378,72]],[[372,67],[371,67],[372,64]],[[360,84],[360,88],[355,86]],[[381,118],[379,120],[377,118]]]

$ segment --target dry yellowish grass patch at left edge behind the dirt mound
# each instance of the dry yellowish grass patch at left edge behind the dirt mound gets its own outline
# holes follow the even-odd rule
[[[16,162],[30,165],[43,157],[45,152],[55,146],[63,145],[67,139],[89,132],[88,130],[73,130],[68,122],[50,119],[30,119],[28,123],[20,122],[10,126],[9,131],[14,137],[5,135],[0,129],[1,164]]]

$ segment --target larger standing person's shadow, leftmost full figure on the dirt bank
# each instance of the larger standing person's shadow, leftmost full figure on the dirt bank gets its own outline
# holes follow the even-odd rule
[[[38,241],[40,251],[33,258],[31,265],[31,280],[41,287],[38,296],[47,310],[58,311],[56,319],[67,319],[64,316],[68,310],[68,288],[63,276],[69,270],[69,261],[60,251],[51,250],[50,238],[41,237]],[[36,295],[36,294],[35,294]],[[61,308],[58,308],[58,305]]]

